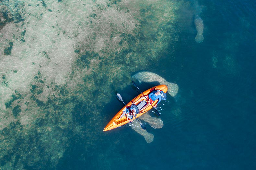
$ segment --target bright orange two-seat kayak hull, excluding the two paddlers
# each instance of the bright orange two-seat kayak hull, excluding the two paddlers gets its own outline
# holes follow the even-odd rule
[[[149,95],[152,91],[154,90],[160,90],[163,91],[164,93],[167,92],[168,87],[167,85],[157,85],[155,87],[152,87],[150,89],[147,89],[145,92],[143,92],[144,95]],[[129,103],[127,103],[127,106],[130,107],[132,105],[132,103],[137,102],[138,99],[143,96],[143,94],[138,95],[137,97],[135,97],[133,100],[131,100]],[[142,102],[147,101],[145,97],[143,97],[144,101],[141,100]],[[152,103],[152,105],[155,107],[156,104],[158,102],[158,99],[154,101],[154,103]],[[149,111],[150,109],[152,109],[152,106],[149,105],[146,108],[144,108],[143,110],[138,110],[138,113],[136,115],[136,117],[140,117],[141,115],[145,114],[147,111]],[[122,125],[125,125],[127,123],[129,123],[130,121],[133,121],[135,118],[135,116],[133,116],[132,119],[128,120],[127,116],[126,116],[126,112],[127,112],[127,108],[126,106],[124,106],[112,119],[111,121],[108,123],[108,125],[106,125],[106,127],[104,128],[103,131],[108,131],[117,127],[120,127]]]

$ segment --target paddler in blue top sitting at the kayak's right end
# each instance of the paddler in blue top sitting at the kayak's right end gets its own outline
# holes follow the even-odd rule
[[[145,109],[146,107],[148,107],[150,104],[152,105],[154,103],[155,100],[158,99],[158,103],[161,102],[161,98],[162,96],[160,95],[161,91],[160,90],[155,90],[155,91],[152,91],[149,95],[145,95],[148,102],[145,106],[143,106],[140,110],[143,110]],[[136,102],[134,102],[133,104],[136,105],[137,103],[141,102],[142,100],[145,100],[145,97],[142,95]],[[157,105],[156,105],[157,106]]]

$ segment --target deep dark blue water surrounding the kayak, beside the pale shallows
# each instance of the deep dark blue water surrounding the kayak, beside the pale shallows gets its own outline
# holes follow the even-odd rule
[[[145,124],[154,141],[147,144],[127,126],[103,132],[122,108],[115,94],[122,94],[125,102],[138,95],[132,84],[124,89],[113,85],[116,91],[103,106],[100,128],[90,136],[93,143],[73,135],[58,170],[256,169],[256,3],[201,0],[198,4],[201,10],[186,5],[177,11],[175,26],[180,32],[175,50],[170,45],[159,54],[159,63],[148,65],[151,70],[131,73],[152,71],[179,85],[178,95],[168,95],[157,108],[163,128]],[[203,43],[194,41],[195,13],[204,22]],[[139,84],[142,91],[154,85]],[[75,112],[83,115],[88,112],[85,108],[78,104]],[[86,129],[85,118],[80,119]]]

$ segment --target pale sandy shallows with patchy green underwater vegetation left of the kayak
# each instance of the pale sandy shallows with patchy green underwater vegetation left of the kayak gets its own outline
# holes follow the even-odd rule
[[[174,49],[181,4],[1,1],[1,169],[55,169],[71,141],[102,140],[113,92]]]

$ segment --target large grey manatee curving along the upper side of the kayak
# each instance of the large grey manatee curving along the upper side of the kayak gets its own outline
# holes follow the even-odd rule
[[[141,71],[141,72],[133,75],[132,78],[137,79],[139,81],[143,81],[145,83],[157,81],[161,85],[168,85],[168,92],[172,97],[174,97],[178,93],[178,90],[179,90],[179,86],[177,84],[170,83],[170,82],[166,81],[163,77],[161,77],[155,73],[148,72],[148,71]]]

